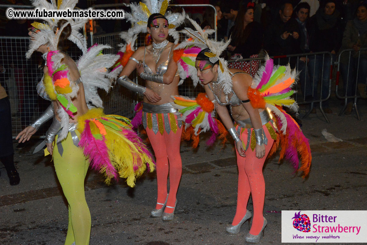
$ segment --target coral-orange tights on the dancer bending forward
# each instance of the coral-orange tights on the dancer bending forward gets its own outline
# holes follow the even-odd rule
[[[262,175],[262,167],[274,142],[274,140],[270,137],[269,131],[265,125],[263,126],[263,129],[266,137],[268,138],[268,144],[265,145],[265,156],[263,158],[258,159],[256,157],[256,151],[252,151],[250,146],[246,151],[246,157],[240,156],[236,149],[238,166],[238,191],[236,215],[233,218],[232,225],[235,226],[240,223],[243,216],[245,216],[248,198],[250,197],[251,193],[252,204],[254,205],[254,215],[252,215],[252,224],[250,230],[250,234],[252,235],[258,235],[264,223],[263,209],[265,199],[265,182],[264,176]],[[240,138],[247,143],[247,130],[243,131]]]

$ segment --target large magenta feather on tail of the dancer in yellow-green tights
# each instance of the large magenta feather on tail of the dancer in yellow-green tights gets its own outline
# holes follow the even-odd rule
[[[103,140],[97,140],[93,137],[89,126],[89,120],[86,120],[86,126],[84,131],[80,134],[78,146],[83,149],[84,155],[89,158],[92,169],[102,171],[102,167],[105,167],[106,176],[109,178],[113,177],[117,180],[117,172],[109,159],[108,148],[103,135],[102,138]]]

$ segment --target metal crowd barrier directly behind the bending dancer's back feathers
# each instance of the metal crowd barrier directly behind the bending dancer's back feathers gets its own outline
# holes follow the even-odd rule
[[[305,62],[300,60],[301,57],[304,57]],[[274,64],[286,65],[290,63],[291,68],[296,68],[296,70],[300,73],[299,80],[302,82],[299,82],[300,84],[297,83],[297,93],[294,94],[294,99],[298,104],[310,104],[310,109],[306,112],[303,118],[307,117],[311,113],[315,103],[319,103],[321,114],[325,118],[326,122],[330,123],[325,112],[323,111],[322,102],[328,100],[331,94],[331,79],[333,75],[332,54],[325,51],[304,54],[277,55],[271,56],[270,58],[274,60]],[[264,63],[264,57],[229,60],[228,63],[241,62],[241,69],[244,69],[245,66],[250,66],[250,73],[255,74],[257,70],[254,71],[253,65],[251,65],[251,62],[254,61],[259,62],[260,67],[262,63]],[[330,72],[324,74],[328,69]],[[323,79],[323,75],[325,76],[325,79]],[[319,82],[319,80],[321,80],[321,82]],[[325,82],[323,80],[327,80],[328,84],[324,85]],[[318,92],[319,89],[320,92]],[[309,96],[306,96],[306,91],[309,92]],[[324,96],[322,96],[323,92]]]

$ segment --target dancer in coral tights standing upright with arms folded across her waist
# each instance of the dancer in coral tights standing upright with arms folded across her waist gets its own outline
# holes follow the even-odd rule
[[[150,144],[156,156],[157,202],[150,213],[152,217],[172,220],[177,204],[177,190],[181,180],[182,162],[180,141],[182,126],[177,121],[176,109],[170,104],[172,95],[178,95],[179,77],[177,65],[169,62],[172,58],[174,43],[168,42],[171,35],[178,42],[175,26],[185,19],[185,13],[172,14],[167,10],[167,0],[145,0],[136,5],[132,3],[127,19],[134,27],[123,32],[126,40],[120,63],[124,66],[117,82],[122,86],[144,95],[142,104],[137,105],[138,112],[132,120],[134,126],[143,124]],[[147,46],[134,52],[134,42],[141,32],[148,32]],[[128,76],[137,68],[146,87],[132,82]],[[168,173],[170,190],[167,191]]]

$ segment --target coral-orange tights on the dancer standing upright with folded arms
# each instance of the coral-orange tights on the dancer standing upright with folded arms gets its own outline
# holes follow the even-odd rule
[[[155,114],[153,114],[155,116]],[[146,133],[150,144],[152,144],[154,154],[156,156],[156,171],[157,171],[157,202],[164,203],[167,198],[167,179],[168,172],[170,174],[170,195],[168,196],[167,206],[174,207],[176,202],[176,194],[178,185],[181,180],[182,174],[182,162],[180,155],[180,143],[181,143],[181,129],[177,127],[176,133],[170,131],[167,134],[164,130],[163,135],[159,132],[155,134],[153,130],[146,128]],[[162,205],[157,204],[156,209],[162,208]],[[174,209],[165,208],[164,212],[172,213]]]

